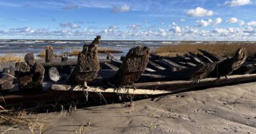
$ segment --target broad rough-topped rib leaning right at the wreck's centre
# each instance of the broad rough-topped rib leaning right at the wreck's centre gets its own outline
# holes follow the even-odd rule
[[[127,86],[133,84],[146,69],[148,64],[150,48],[137,46],[131,48],[117,73],[110,78],[110,83],[116,86]]]

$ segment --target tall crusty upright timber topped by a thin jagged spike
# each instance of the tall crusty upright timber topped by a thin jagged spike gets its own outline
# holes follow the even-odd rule
[[[97,56],[97,48],[100,39],[101,37],[98,35],[91,44],[83,45],[83,51],[78,54],[77,65],[70,76],[72,84],[85,84],[98,75],[100,61]]]

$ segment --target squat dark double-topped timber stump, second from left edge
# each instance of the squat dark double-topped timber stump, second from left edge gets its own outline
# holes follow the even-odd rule
[[[15,65],[18,73],[18,88],[20,90],[42,90],[45,69],[39,62],[28,65],[25,62],[17,62]]]

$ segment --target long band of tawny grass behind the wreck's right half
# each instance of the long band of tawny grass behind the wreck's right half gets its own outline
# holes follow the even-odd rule
[[[205,50],[207,52],[211,52],[213,54],[217,54],[222,57],[233,56],[234,52],[238,50],[238,48],[244,47],[249,56],[253,56],[256,54],[256,43],[249,42],[217,42],[216,44],[177,44],[177,45],[166,45],[160,46],[155,50],[155,54],[160,56],[177,56],[177,54],[182,55],[188,52],[200,53],[198,49]]]

